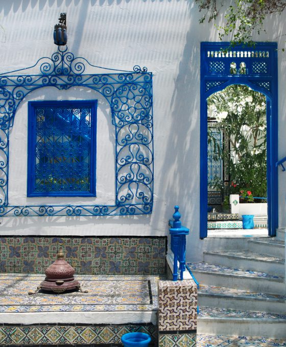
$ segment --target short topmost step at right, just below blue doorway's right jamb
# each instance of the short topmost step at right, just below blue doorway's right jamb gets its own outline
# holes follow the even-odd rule
[[[285,241],[278,240],[276,237],[249,240],[248,249],[252,252],[269,254],[279,258],[285,257]]]

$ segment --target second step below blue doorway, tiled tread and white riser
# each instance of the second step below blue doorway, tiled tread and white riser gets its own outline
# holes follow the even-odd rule
[[[244,270],[254,270],[284,276],[285,259],[250,251],[204,252],[204,261]]]

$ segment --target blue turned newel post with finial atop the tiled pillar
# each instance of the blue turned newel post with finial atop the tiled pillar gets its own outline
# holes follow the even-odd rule
[[[178,261],[180,263],[180,280],[183,280],[183,272],[186,269],[186,235],[189,229],[183,227],[180,221],[179,206],[175,206],[174,220],[169,220],[171,234],[171,250],[174,253],[173,281],[178,280]]]

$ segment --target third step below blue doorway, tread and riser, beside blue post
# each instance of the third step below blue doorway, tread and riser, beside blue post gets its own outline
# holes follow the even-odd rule
[[[284,278],[265,272],[230,268],[221,265],[188,263],[197,281],[202,284],[239,288],[269,294],[285,294]]]

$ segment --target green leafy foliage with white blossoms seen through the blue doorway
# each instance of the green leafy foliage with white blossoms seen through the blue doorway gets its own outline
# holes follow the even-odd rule
[[[266,97],[245,85],[231,85],[208,97],[208,143],[222,159],[229,184],[215,178],[209,185],[222,190],[224,196],[251,191],[252,196],[267,196],[266,163]],[[222,147],[212,136],[213,128],[223,131]],[[261,202],[261,201],[256,201]]]

